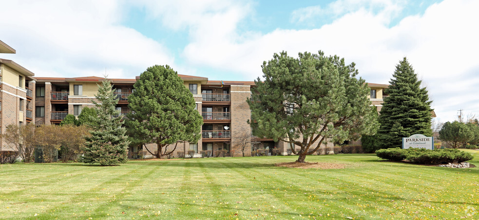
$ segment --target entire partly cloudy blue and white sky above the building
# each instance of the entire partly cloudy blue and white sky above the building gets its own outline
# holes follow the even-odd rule
[[[479,116],[478,0],[0,0],[0,39],[36,76],[252,81],[274,53],[322,50],[387,84],[406,56],[441,121]]]

